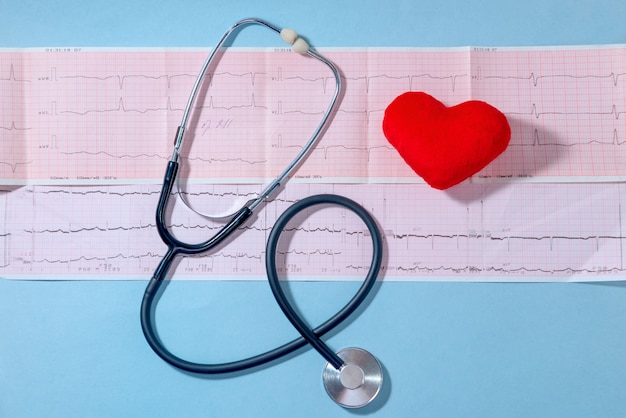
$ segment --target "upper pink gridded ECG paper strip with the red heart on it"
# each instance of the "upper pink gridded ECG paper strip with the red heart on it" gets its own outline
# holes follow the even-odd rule
[[[300,181],[419,182],[381,129],[391,100],[418,90],[447,105],[484,100],[506,114],[511,144],[477,179],[625,178],[622,45],[323,52],[346,90]],[[1,52],[2,183],[159,183],[205,55]],[[185,175],[200,183],[274,177],[312,133],[334,83],[325,66],[282,49],[228,52],[207,80],[184,161]]]

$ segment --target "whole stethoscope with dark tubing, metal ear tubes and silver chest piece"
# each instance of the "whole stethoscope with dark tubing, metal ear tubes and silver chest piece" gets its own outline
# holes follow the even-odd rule
[[[289,166],[276,179],[270,182],[270,184],[259,193],[258,197],[249,200],[238,211],[230,215],[226,220],[225,225],[219,230],[219,232],[207,241],[197,244],[182,242],[170,233],[166,226],[165,218],[168,201],[172,194],[174,184],[176,183],[179,169],[178,160],[183,146],[187,121],[189,119],[191,109],[194,107],[194,103],[196,102],[196,96],[204,74],[213,62],[216,54],[222,48],[226,40],[232,36],[236,30],[248,25],[260,25],[268,28],[280,34],[283,40],[292,45],[294,51],[302,55],[313,57],[326,64],[326,66],[328,66],[328,68],[332,71],[335,78],[335,92],[320,124],[317,126],[308,142],[304,145],[302,151],[300,151]],[[306,41],[298,37],[295,31],[291,29],[280,29],[273,24],[260,19],[244,19],[235,23],[226,31],[207,57],[192,88],[187,106],[183,113],[181,125],[176,132],[174,152],[167,165],[157,205],[156,226],[161,239],[167,245],[167,251],[148,283],[141,304],[141,326],[146,340],[154,352],[169,364],[192,373],[231,373],[260,366],[286,356],[293,351],[304,347],[306,344],[310,344],[328,362],[323,372],[323,383],[329,396],[339,405],[347,408],[365,406],[380,392],[383,382],[382,367],[372,354],[360,348],[346,348],[335,353],[320,339],[322,335],[326,334],[342,321],[347,319],[359,307],[359,305],[365,301],[368,293],[376,282],[376,277],[382,261],[382,238],[376,222],[363,207],[342,196],[331,194],[313,195],[296,202],[278,218],[268,238],[265,264],[270,288],[281,310],[289,319],[291,324],[298,330],[301,337],[273,350],[247,359],[222,364],[201,364],[184,360],[172,354],[160,341],[154,328],[153,310],[155,306],[155,298],[159,293],[159,289],[161,288],[161,285],[163,284],[174,259],[179,255],[198,255],[215,248],[218,244],[223,242],[224,239],[242,226],[253,214],[253,211],[263,201],[269,199],[278,191],[289,174],[313,149],[313,145],[320,136],[321,132],[324,130],[333,110],[335,109],[340,91],[341,79],[339,71],[331,61],[309,48]],[[363,223],[365,223],[369,234],[372,237],[373,251],[369,271],[356,294],[334,316],[319,325],[317,328],[311,329],[292,308],[281,287],[276,267],[276,252],[280,235],[288,222],[301,211],[317,205],[336,205],[354,212],[363,221]]]

